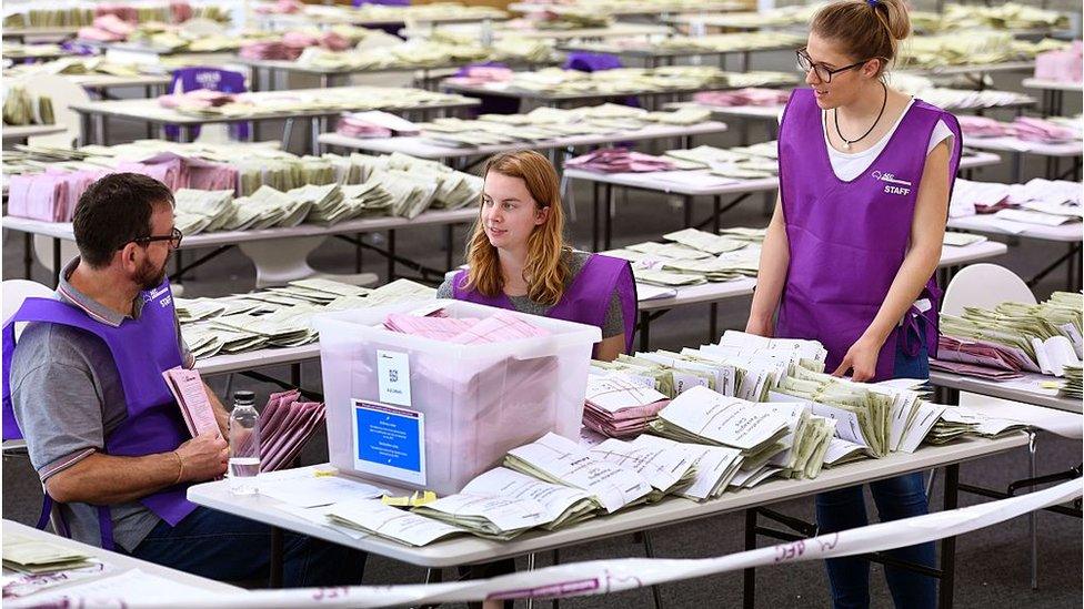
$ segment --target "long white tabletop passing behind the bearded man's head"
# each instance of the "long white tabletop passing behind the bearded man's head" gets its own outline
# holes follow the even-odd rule
[[[471,222],[478,216],[478,210],[473,206],[461,210],[430,210],[422,212],[418,217],[410,220],[398,216],[362,217],[348,222],[340,222],[332,226],[321,224],[300,224],[298,226],[281,229],[260,229],[255,231],[214,231],[185,236],[181,241],[181,250],[194,250],[197,247],[217,247],[220,245],[235,245],[238,243],[253,241],[269,241],[291,237],[312,237],[331,236],[354,233],[372,233],[378,231],[391,231],[398,229],[413,229],[418,226],[441,226],[444,224],[458,224]],[[70,222],[43,222],[27,217],[3,216],[4,229],[32,233],[36,235],[74,241],[76,236]]]

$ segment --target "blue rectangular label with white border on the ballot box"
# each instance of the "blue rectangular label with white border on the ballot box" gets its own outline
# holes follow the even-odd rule
[[[425,415],[354,399],[351,420],[355,470],[425,484]]]

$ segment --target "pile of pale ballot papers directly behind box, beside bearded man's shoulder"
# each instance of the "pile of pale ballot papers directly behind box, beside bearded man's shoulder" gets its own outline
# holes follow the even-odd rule
[[[174,298],[181,335],[198,359],[317,341],[310,321],[322,312],[434,298],[436,291],[406,280],[370,290],[330,280],[291,282],[222,298]]]

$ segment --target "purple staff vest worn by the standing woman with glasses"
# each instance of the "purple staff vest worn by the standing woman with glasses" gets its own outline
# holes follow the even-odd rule
[[[829,372],[873,322],[903,264],[926,144],[939,120],[954,135],[951,194],[961,149],[960,124],[952,114],[915,100],[873,164],[846,182],[832,170],[813,91],[795,90],[786,104],[779,164],[790,266],[775,335],[820,341],[829,352]],[[935,356],[941,290],[934,277],[921,298],[933,305],[922,316],[926,348]],[[912,307],[885,341],[874,380],[892,378],[899,341],[904,353],[917,354],[917,315]]]

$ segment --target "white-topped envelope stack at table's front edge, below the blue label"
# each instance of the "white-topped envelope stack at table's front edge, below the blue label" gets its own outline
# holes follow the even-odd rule
[[[470,532],[440,520],[385,506],[379,499],[334,504],[328,509],[328,519],[335,525],[415,547]]]

